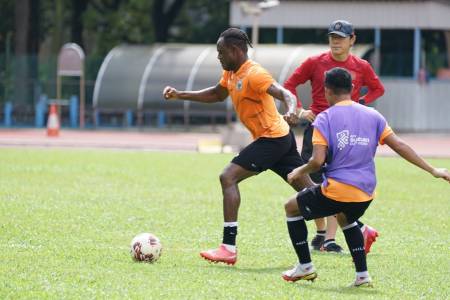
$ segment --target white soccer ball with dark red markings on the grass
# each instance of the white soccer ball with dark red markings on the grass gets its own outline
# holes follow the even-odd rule
[[[141,233],[131,241],[131,256],[134,260],[155,262],[161,256],[160,240],[151,233]]]

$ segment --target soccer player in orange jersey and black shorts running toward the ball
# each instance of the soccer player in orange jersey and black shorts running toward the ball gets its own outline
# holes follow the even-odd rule
[[[254,141],[245,147],[220,175],[223,193],[224,228],[222,244],[200,255],[213,262],[236,263],[236,235],[240,195],[238,183],[270,169],[287,180],[287,174],[301,166],[293,132],[286,119],[295,117],[295,96],[275,82],[258,63],[247,56],[252,46],[245,32],[229,28],[217,41],[218,59],[223,75],[216,86],[200,91],[178,91],[166,87],[166,99],[191,100],[204,103],[224,101],[231,96],[241,122],[251,132]],[[285,104],[287,113],[279,114],[274,98]],[[313,182],[307,176],[291,183],[297,191]]]

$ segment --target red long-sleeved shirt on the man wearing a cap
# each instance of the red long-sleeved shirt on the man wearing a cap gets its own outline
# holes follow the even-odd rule
[[[305,60],[286,80],[284,87],[294,95],[297,95],[296,87],[299,84],[311,80],[313,101],[310,109],[317,115],[329,107],[325,99],[323,83],[325,80],[325,72],[335,67],[345,68],[350,71],[353,83],[351,95],[353,101],[363,99],[368,104],[384,94],[383,84],[366,60],[350,54],[347,60],[337,61],[331,55],[331,51],[312,56]],[[367,86],[368,92],[361,97],[360,91],[363,86]],[[297,106],[302,106],[298,96]]]

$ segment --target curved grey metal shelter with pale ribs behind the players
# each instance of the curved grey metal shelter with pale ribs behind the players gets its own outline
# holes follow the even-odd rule
[[[252,59],[261,63],[280,83],[307,57],[328,50],[327,45],[258,45],[250,49]],[[354,47],[363,56],[369,46]],[[156,46],[123,45],[112,49],[102,63],[94,88],[95,109],[131,109],[184,114],[230,112],[229,99],[203,104],[191,101],[166,101],[165,86],[179,90],[199,90],[216,85],[222,74],[216,45],[164,44]],[[310,98],[301,90],[303,99]]]

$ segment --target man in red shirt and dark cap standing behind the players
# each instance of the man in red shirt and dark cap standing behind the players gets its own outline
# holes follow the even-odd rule
[[[341,67],[347,69],[352,76],[353,90],[351,98],[353,101],[361,104],[369,104],[384,94],[383,84],[370,64],[359,57],[350,53],[351,47],[354,45],[356,35],[353,25],[344,20],[337,20],[330,24],[328,28],[328,41],[330,51],[309,57],[303,62],[294,73],[286,80],[284,87],[297,95],[296,87],[304,84],[308,80],[312,86],[312,104],[309,109],[303,109],[300,99],[297,97],[297,119],[291,120],[298,122],[305,119],[308,124],[303,135],[303,145],[301,156],[305,162],[308,162],[312,156],[312,133],[313,127],[311,123],[316,115],[326,110],[329,104],[324,93],[324,76],[325,72]],[[361,88],[366,86],[368,92],[362,96]],[[317,182],[322,182],[322,173],[311,174],[311,178]],[[311,246],[315,250],[342,252],[342,247],[336,244],[335,236],[337,230],[337,221],[334,216],[326,219],[315,220],[317,234],[311,242]],[[375,229],[368,225],[358,222],[363,235],[366,253],[370,251],[372,243],[375,241],[378,233]]]

